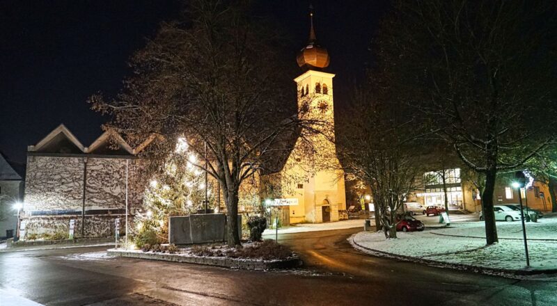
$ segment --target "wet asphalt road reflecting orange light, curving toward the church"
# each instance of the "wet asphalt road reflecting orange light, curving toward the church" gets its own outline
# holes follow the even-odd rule
[[[347,243],[357,231],[279,235],[306,263],[295,271],[111,258],[103,248],[3,252],[0,288],[45,305],[557,305],[557,282],[371,257]]]

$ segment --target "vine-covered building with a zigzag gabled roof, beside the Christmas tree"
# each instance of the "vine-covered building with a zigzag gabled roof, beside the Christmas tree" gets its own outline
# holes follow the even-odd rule
[[[29,145],[22,209],[26,236],[68,233],[70,220],[75,238],[111,236],[116,218],[124,227],[126,204],[132,220],[146,186],[137,154],[154,139],[132,148],[108,130],[85,147],[60,124]]]

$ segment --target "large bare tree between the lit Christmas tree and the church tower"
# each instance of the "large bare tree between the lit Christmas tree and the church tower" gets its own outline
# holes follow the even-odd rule
[[[185,21],[162,24],[132,57],[134,74],[116,99],[91,97],[130,142],[161,136],[146,152],[153,171],[187,138],[197,156],[191,164],[221,188],[229,245],[240,245],[242,182],[272,172],[272,160],[292,149],[285,138],[303,138],[318,124],[305,120],[307,108],[297,112],[280,36],[248,11],[244,1],[191,1]]]

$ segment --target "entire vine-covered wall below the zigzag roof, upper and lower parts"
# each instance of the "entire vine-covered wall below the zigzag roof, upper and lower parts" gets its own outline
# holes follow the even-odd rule
[[[84,162],[87,162],[86,177]],[[98,157],[29,156],[24,198],[27,234],[68,232],[70,219],[76,220],[75,237],[81,238],[81,211],[85,184],[84,237],[114,235],[114,219],[120,214],[125,225],[126,159]],[[147,179],[141,160],[128,160],[128,203],[130,219],[143,201]],[[114,209],[120,211],[115,212]],[[107,214],[107,210],[112,210]],[[36,216],[31,212],[74,211],[72,216]]]

